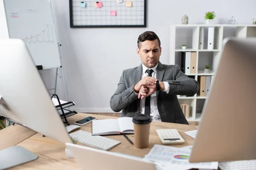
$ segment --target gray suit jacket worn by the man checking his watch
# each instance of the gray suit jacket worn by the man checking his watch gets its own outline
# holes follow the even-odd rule
[[[111,96],[110,106],[115,112],[122,110],[121,116],[134,117],[139,114],[140,99],[134,94],[133,87],[141,80],[142,64],[136,68],[130,68],[122,72],[116,92]],[[195,79],[187,77],[178,65],[157,66],[157,79],[168,82],[169,93],[157,91],[157,109],[162,122],[188,124],[177,95],[194,95],[199,85]]]

